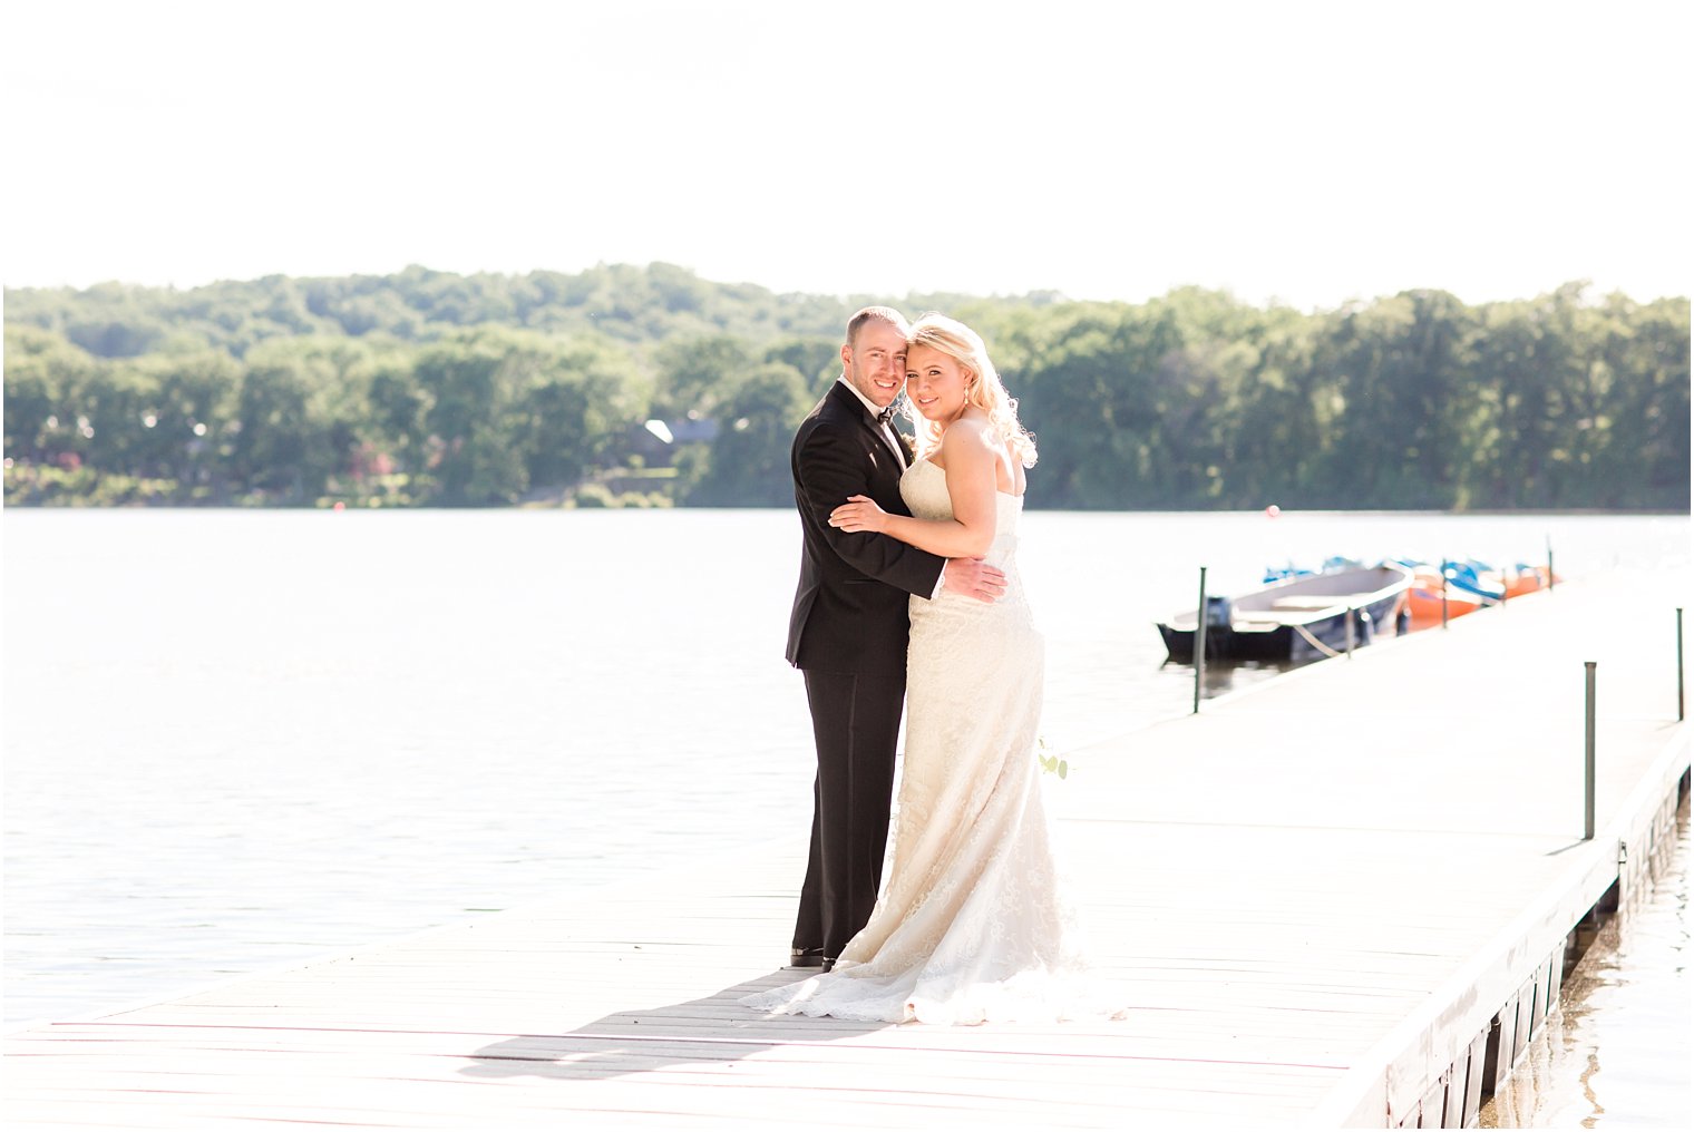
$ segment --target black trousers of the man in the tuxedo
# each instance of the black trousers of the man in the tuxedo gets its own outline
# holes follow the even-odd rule
[[[794,947],[822,947],[833,959],[871,918],[883,883],[906,674],[805,676],[818,778]]]

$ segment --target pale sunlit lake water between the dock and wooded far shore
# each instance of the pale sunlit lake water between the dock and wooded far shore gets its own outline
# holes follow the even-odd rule
[[[7,508],[0,537],[8,1029],[810,820],[789,512]],[[1199,566],[1235,593],[1331,554],[1548,544],[1562,574],[1686,568],[1689,520],[1032,512],[1044,735],[1187,710],[1154,620]]]

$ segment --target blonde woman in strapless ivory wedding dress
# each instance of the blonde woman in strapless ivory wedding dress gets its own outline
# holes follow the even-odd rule
[[[906,349],[918,459],[911,517],[855,495],[830,515],[1006,574],[993,605],[911,600],[906,751],[888,888],[833,971],[740,1002],[862,1022],[977,1024],[1120,1013],[1094,1000],[1037,776],[1044,644],[1016,569],[1035,441],[983,339],[928,314]]]

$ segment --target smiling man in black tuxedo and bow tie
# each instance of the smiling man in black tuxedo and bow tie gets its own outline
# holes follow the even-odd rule
[[[847,322],[842,375],[794,434],[791,468],[803,554],[788,661],[806,678],[818,747],[811,854],[800,888],[789,966],[835,966],[871,918],[888,847],[894,742],[906,695],[906,597],[944,588],[993,602],[1005,574],[977,559],[940,559],[883,534],[830,527],[830,512],[867,495],[893,513],[911,456],[894,430],[906,376],[906,320],[866,307]]]

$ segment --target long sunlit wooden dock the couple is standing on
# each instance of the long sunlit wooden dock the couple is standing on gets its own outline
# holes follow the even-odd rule
[[[12,1034],[7,1127],[1474,1124],[1686,788],[1682,585],[1569,581],[1067,752],[1049,796],[1121,1022],[737,1007],[798,978],[796,815],[591,902]]]

